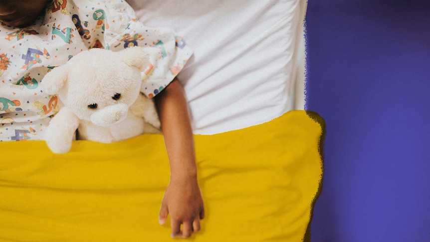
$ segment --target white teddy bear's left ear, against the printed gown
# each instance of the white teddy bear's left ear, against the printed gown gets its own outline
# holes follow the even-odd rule
[[[57,94],[67,81],[68,68],[66,66],[58,66],[46,73],[41,84],[44,87],[44,92],[48,95]]]

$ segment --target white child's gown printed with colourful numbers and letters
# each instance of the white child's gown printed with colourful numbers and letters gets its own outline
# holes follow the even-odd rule
[[[141,91],[152,98],[181,71],[191,49],[170,29],[136,21],[123,0],[54,0],[43,17],[25,28],[0,25],[0,141],[40,140],[59,110],[43,93],[43,76],[90,48],[114,51],[148,47]],[[82,70],[91,71],[91,70]]]

